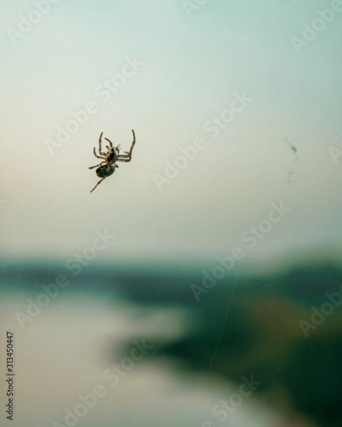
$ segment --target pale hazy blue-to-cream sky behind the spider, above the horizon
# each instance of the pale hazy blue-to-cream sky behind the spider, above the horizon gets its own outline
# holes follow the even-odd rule
[[[46,1],[0,6],[2,260],[341,252],[339,0]]]

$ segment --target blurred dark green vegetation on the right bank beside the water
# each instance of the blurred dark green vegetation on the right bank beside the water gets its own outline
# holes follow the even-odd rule
[[[341,426],[342,304],[322,306],[331,314],[316,315],[316,325],[311,319],[311,307],[319,312],[329,302],[326,292],[338,292],[342,303],[340,288],[342,272],[328,263],[218,280],[192,302],[191,332],[161,344],[154,357],[174,357],[180,369],[237,384],[254,375],[261,381],[258,396],[272,408],[303,414],[318,426]]]

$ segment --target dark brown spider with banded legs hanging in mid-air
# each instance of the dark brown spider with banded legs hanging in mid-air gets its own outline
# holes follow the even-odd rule
[[[89,169],[94,169],[94,167],[98,167],[98,169],[95,170],[96,175],[99,178],[101,178],[100,181],[98,181],[98,184],[100,184],[103,181],[103,179],[107,178],[107,176],[110,176],[115,172],[115,168],[118,167],[118,164],[116,164],[115,162],[131,161],[132,150],[135,145],[134,130],[132,130],[132,132],[133,132],[133,142],[132,142],[132,145],[130,146],[130,151],[125,152],[125,154],[120,154],[120,144],[117,147],[113,147],[112,142],[110,142],[108,138],[105,138],[105,140],[109,142],[109,146],[108,145],[105,146],[107,148],[107,152],[106,153],[103,152],[101,147],[103,132],[101,132],[100,137],[98,139],[98,152],[100,153],[100,155],[98,156],[98,154],[96,154],[95,147],[93,149],[93,153],[95,157],[97,157],[98,159],[103,159],[103,161],[100,162],[99,164],[95,164],[95,166],[90,166],[89,168]],[[90,191],[90,193],[95,190],[98,184],[95,185],[95,187]]]

